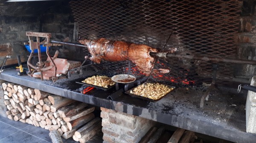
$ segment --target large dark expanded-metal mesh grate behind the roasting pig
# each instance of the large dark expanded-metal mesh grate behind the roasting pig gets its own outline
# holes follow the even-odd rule
[[[77,0],[70,6],[79,22],[79,36],[87,39],[123,40],[179,54],[235,58],[235,34],[239,28],[242,1],[238,0]],[[84,54],[89,54],[84,49]],[[163,59],[158,68],[170,73],[152,75],[158,81],[199,84],[211,81],[213,62]],[[233,64],[218,63],[217,82],[231,81]],[[127,62],[103,62],[113,73],[124,73]],[[122,69],[122,70],[120,70]],[[134,74],[143,76],[133,64]]]

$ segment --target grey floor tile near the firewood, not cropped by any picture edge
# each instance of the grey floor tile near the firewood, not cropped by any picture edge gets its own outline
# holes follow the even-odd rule
[[[27,126],[26,128],[22,129],[22,131],[35,135],[43,140],[49,137],[49,130],[33,125]]]

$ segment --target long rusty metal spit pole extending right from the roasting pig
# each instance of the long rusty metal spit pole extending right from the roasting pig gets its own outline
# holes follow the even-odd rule
[[[256,65],[256,61],[246,60],[246,59],[228,59],[228,58],[216,58],[211,56],[193,56],[193,55],[180,55],[175,53],[155,53],[150,52],[150,56],[157,56],[160,58],[182,58],[182,59],[194,59],[194,60],[202,60],[202,61],[212,61],[212,62],[230,62],[236,64],[253,64]]]

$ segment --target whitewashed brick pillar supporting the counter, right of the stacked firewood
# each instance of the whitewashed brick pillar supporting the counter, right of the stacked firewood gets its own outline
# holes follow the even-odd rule
[[[103,143],[138,143],[153,121],[101,107]]]

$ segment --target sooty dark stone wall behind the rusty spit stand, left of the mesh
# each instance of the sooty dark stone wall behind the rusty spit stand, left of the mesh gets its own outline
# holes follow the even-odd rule
[[[67,0],[0,3],[0,66],[8,53],[12,58],[6,64],[17,63],[16,55],[26,61],[26,31],[51,33],[52,40],[61,41],[73,37],[73,22]],[[65,51],[52,48],[57,49],[61,57]]]

